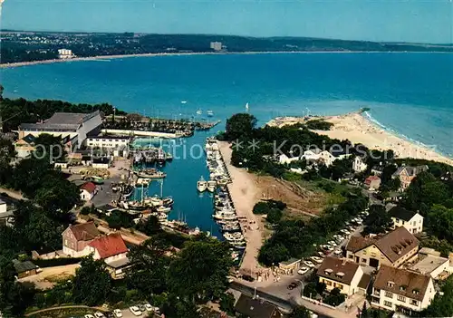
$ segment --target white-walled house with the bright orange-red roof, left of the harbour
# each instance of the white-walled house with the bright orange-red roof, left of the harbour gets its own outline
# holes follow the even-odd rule
[[[119,233],[97,237],[84,250],[87,255],[92,254],[94,259],[102,259],[112,278],[122,278],[124,270],[130,267],[129,249]]]

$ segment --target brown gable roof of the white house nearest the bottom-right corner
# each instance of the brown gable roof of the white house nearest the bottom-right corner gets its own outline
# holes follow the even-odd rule
[[[430,279],[431,277],[429,275],[422,275],[406,269],[381,265],[381,269],[379,270],[378,275],[376,275],[374,288],[422,301]],[[389,282],[393,284],[390,286]],[[418,291],[419,294],[414,294],[414,291],[416,291],[416,293]]]

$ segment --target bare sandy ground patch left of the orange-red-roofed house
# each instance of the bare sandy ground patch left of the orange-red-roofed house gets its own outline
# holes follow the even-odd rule
[[[48,289],[52,288],[57,280],[67,279],[69,276],[75,275],[75,270],[79,267],[78,264],[45,267],[38,275],[21,278],[19,282],[32,282],[36,285],[36,288]]]

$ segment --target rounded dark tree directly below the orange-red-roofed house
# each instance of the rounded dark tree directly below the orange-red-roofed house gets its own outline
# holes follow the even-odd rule
[[[75,271],[72,296],[77,304],[94,306],[102,304],[111,290],[111,275],[102,260],[92,255],[82,259],[81,267]]]

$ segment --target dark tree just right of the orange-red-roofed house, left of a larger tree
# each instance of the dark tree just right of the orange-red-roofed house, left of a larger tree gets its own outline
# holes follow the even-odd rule
[[[129,259],[134,266],[126,272],[128,286],[145,297],[164,292],[167,289],[164,277],[169,265],[169,257],[165,255],[168,249],[168,243],[156,237],[133,246]]]

